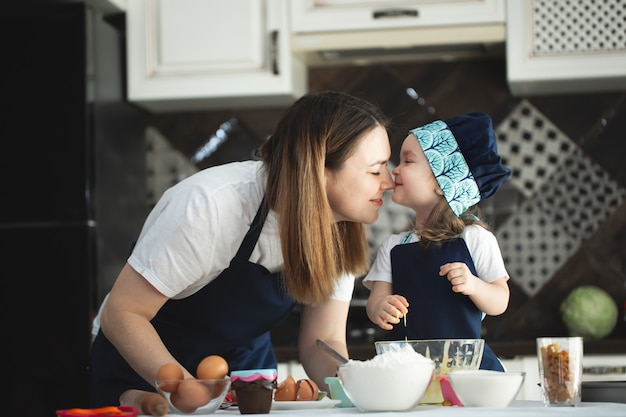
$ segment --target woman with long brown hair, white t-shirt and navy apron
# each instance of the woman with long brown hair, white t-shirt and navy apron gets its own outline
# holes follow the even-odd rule
[[[325,388],[337,362],[315,340],[347,356],[354,277],[369,268],[364,224],[394,187],[387,122],[356,97],[308,94],[261,161],[208,168],[166,191],[101,308],[93,406],[154,391],[167,362],[186,377],[212,354],[231,371],[275,368],[269,331],[295,303],[300,361]]]

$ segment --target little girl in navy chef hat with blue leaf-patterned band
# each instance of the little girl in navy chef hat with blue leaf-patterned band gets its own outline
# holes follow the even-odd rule
[[[502,314],[509,302],[498,242],[474,207],[511,174],[491,118],[467,113],[411,130],[392,173],[392,200],[415,211],[414,230],[378,250],[363,280],[368,317],[389,340],[481,338],[485,314]],[[504,370],[487,345],[480,367]]]

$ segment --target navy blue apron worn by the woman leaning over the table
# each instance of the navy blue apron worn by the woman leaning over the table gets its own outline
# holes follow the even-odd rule
[[[152,320],[171,354],[190,372],[208,355],[229,369],[276,368],[270,329],[295,305],[279,273],[249,261],[267,215],[264,203],[237,254],[218,277],[197,293],[168,300]],[[138,300],[140,302],[140,300]],[[92,347],[92,407],[119,404],[124,391],[154,391],[100,331]]]

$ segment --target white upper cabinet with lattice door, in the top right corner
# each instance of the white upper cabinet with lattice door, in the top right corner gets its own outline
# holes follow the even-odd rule
[[[516,96],[626,90],[626,2],[507,1]]]

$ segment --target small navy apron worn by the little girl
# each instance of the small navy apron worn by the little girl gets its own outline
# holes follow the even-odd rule
[[[466,295],[455,293],[439,267],[464,262],[476,275],[474,261],[465,240],[455,239],[426,248],[418,242],[391,249],[393,293],[409,302],[406,327],[402,321],[389,333],[389,340],[480,339],[482,312]],[[502,364],[485,344],[481,369],[504,371]]]

